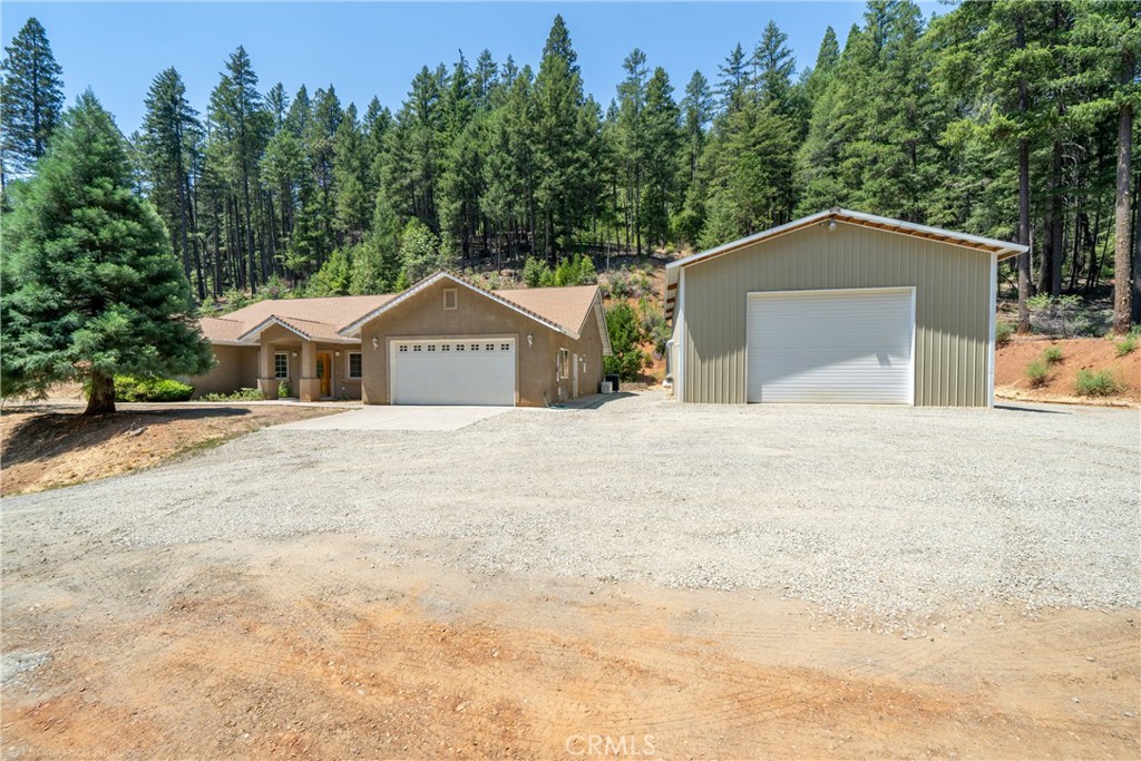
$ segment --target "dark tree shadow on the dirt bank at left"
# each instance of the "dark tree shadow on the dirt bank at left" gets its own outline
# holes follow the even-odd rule
[[[9,414],[33,413],[18,422],[3,437],[0,460],[5,467],[51,458],[63,452],[84,450],[103,444],[121,434],[141,434],[147,427],[176,420],[207,420],[250,414],[242,407],[209,407],[192,410],[124,410],[111,415],[84,418],[80,408],[72,412],[43,411],[35,406],[13,406]],[[34,414],[39,413],[39,414]]]

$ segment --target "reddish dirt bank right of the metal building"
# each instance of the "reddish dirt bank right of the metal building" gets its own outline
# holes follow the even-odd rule
[[[1062,361],[1051,367],[1044,384],[1034,387],[1026,377],[1026,367],[1042,358],[1042,353],[1050,347],[1061,349]],[[1122,392],[1102,398],[1077,396],[1079,370],[1108,370],[1122,383]],[[995,391],[1023,400],[1138,404],[1141,403],[1141,348],[1118,357],[1114,341],[1107,339],[1015,337],[995,351]]]

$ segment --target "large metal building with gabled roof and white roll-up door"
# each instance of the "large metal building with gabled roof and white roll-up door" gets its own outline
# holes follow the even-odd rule
[[[997,266],[1026,246],[832,209],[666,267],[682,402],[994,404]]]

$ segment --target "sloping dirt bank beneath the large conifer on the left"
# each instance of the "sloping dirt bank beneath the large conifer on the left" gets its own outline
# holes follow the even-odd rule
[[[84,418],[83,407],[52,399],[5,406],[0,414],[0,495],[81,484],[221,444],[266,426],[340,412],[256,404],[119,405]]]

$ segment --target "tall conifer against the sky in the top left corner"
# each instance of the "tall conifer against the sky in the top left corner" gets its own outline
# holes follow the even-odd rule
[[[0,187],[47,149],[64,106],[62,73],[43,26],[29,18],[0,64]]]

